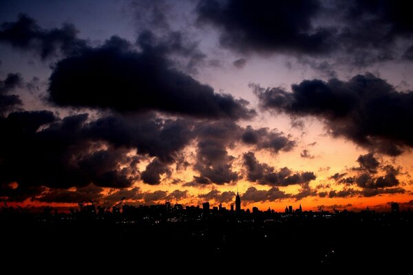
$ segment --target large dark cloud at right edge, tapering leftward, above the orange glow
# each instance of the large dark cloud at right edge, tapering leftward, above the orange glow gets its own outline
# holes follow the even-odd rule
[[[405,146],[413,147],[412,92],[396,91],[372,74],[348,81],[304,80],[291,89],[255,86],[255,94],[263,109],[315,116],[324,120],[331,135],[380,153],[399,155]]]

